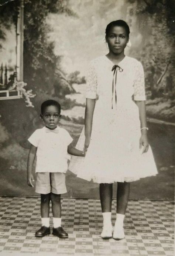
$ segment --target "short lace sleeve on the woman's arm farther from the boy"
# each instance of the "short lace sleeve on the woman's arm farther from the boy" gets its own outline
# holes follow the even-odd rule
[[[134,79],[134,100],[145,100],[145,83],[143,66],[139,62],[136,66]]]

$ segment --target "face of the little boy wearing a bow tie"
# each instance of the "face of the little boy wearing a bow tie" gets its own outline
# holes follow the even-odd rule
[[[60,121],[60,112],[54,105],[48,106],[44,109],[44,113],[41,114],[41,118],[45,123],[45,126],[49,129],[55,129]]]

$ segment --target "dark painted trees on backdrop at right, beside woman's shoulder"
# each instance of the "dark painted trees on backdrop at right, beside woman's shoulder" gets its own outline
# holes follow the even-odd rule
[[[141,52],[135,51],[134,55],[138,56],[144,66],[147,98],[171,99],[174,105],[175,1],[136,1],[138,27],[143,40]]]

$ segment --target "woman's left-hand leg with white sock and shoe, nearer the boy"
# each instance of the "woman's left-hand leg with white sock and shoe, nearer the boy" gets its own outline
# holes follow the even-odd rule
[[[113,184],[100,184],[100,202],[103,215],[103,231],[101,237],[109,239],[112,237],[111,206],[112,206]]]

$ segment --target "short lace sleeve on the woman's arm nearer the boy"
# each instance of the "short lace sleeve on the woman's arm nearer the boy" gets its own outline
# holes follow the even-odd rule
[[[86,82],[86,98],[96,99],[97,94],[97,73],[93,63],[88,67],[87,82]]]

